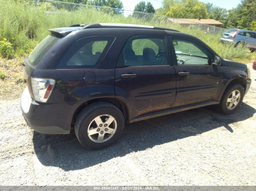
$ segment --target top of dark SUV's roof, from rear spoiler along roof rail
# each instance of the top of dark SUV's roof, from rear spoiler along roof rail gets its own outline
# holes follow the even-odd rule
[[[90,23],[90,24],[74,24],[69,27],[63,28],[54,28],[49,29],[51,33],[61,35],[65,37],[69,33],[75,30],[82,30],[82,29],[89,29],[89,28],[141,28],[141,29],[157,29],[157,30],[171,30],[179,32],[178,30],[173,30],[169,28],[162,28],[162,27],[153,27],[148,25],[138,25],[138,24],[119,24],[119,23]]]

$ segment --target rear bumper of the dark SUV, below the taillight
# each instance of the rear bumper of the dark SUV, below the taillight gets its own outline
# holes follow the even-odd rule
[[[72,108],[72,104],[69,104]],[[69,134],[73,113],[67,103],[38,103],[31,99],[26,87],[21,96],[22,114],[36,132],[44,134]]]

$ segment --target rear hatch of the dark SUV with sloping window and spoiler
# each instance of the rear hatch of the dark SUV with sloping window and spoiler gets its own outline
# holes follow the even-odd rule
[[[33,92],[32,92],[32,86],[31,86],[31,75],[35,68],[37,67],[40,60],[45,56],[45,54],[52,48],[54,44],[56,44],[61,38],[65,37],[69,33],[80,30],[81,27],[64,27],[64,28],[56,28],[56,29],[50,29],[51,32],[50,35],[45,37],[44,40],[42,40],[32,51],[32,53],[28,56],[28,58],[23,62],[25,64],[24,66],[24,73],[25,73],[25,79],[27,81],[27,86],[29,93],[34,99]]]

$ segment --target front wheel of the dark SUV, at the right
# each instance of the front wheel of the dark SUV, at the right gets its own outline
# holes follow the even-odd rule
[[[241,84],[232,83],[229,84],[221,101],[218,105],[218,109],[221,113],[226,115],[235,113],[240,107],[244,98],[244,88]]]

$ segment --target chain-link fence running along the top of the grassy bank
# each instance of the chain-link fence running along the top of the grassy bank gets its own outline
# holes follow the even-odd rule
[[[61,2],[55,0],[35,0],[36,8],[43,8],[46,13],[54,14],[58,11],[65,13],[66,11],[79,11],[85,9],[85,11],[101,11],[101,13],[109,14],[109,16],[120,16],[122,15],[126,19],[133,18],[137,19],[139,23],[151,24],[155,26],[165,26],[167,28],[179,29],[181,27],[187,27],[192,30],[199,29],[205,33],[213,33],[222,35],[228,29],[217,27],[220,24],[203,24],[199,22],[188,20],[182,20],[178,18],[166,17],[153,13],[143,13],[137,11],[128,11],[124,9],[110,8],[110,7],[99,7],[93,5],[76,4],[69,2]],[[86,23],[74,23],[74,24],[86,24]]]

